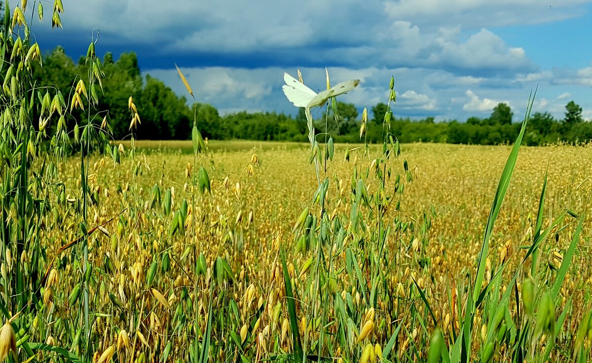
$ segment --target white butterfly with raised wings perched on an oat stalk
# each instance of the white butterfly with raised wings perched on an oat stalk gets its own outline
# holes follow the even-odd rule
[[[294,103],[296,107],[313,108],[322,106],[327,102],[327,99],[339,96],[342,93],[354,89],[360,83],[359,79],[346,80],[330,89],[319,92],[318,94],[301,83],[287,72],[284,73],[284,81],[286,84],[282,86],[284,94],[288,101]]]

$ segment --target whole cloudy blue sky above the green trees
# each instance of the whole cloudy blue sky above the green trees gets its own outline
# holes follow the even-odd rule
[[[465,121],[506,102],[518,121],[538,85],[534,111],[563,118],[574,100],[592,118],[592,0],[63,3],[63,30],[33,28],[44,50],[61,45],[76,61],[98,28],[99,54],[135,51],[143,74],[189,96],[176,63],[221,114],[294,115],[284,72],[300,69],[318,92],[327,67],[333,84],[361,80],[338,98],[360,110],[388,101],[394,75],[396,116]]]

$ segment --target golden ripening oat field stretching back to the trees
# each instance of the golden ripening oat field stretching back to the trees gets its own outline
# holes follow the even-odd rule
[[[366,156],[363,147],[350,151],[345,160],[345,145],[337,145],[320,170],[321,185],[327,177],[321,202],[307,145],[210,142],[210,153],[198,158],[175,151],[179,142],[162,145],[154,151],[155,142],[137,141],[131,159],[127,144],[120,164],[91,158],[89,189],[97,203],[89,203],[88,229],[102,226],[89,236],[92,272],[85,280],[94,361],[196,361],[206,339],[209,361],[288,360],[295,353],[311,361],[423,361],[437,339],[453,354],[511,147],[402,145],[400,157],[377,163],[377,146]],[[200,193],[196,160],[207,169],[211,193]],[[535,241],[547,167],[542,229],[561,221],[531,270],[532,256],[520,262]],[[578,223],[564,210],[585,212],[591,167],[590,147],[520,150],[489,242],[482,287],[493,281],[492,289],[472,322],[469,354],[476,361],[510,361],[516,346],[542,359],[552,339],[552,361],[589,351],[587,335],[576,339],[590,316],[589,218],[546,312],[551,322],[541,302]],[[390,178],[383,173],[384,189],[380,169],[391,169]],[[60,166],[60,175],[65,190],[76,190],[79,158]],[[356,200],[358,180],[367,203],[364,195]],[[81,249],[58,248],[81,236],[81,200],[56,196],[55,212],[43,219],[45,265],[54,256],[56,262],[44,287],[47,309],[33,317],[30,338],[72,346],[79,355]],[[530,305],[523,302],[526,280]],[[498,309],[507,286],[509,299]]]

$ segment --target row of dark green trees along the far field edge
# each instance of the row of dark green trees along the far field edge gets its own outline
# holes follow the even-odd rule
[[[61,92],[66,100],[78,79],[87,80],[88,64],[84,57],[75,63],[62,47],[46,54],[43,67],[34,70],[38,84],[53,85],[50,96]],[[178,96],[161,80],[149,75],[143,77],[134,52],[123,53],[115,61],[107,53],[102,61],[105,79],[99,108],[91,117],[107,116],[108,125],[115,140],[131,136],[128,99],[134,98],[141,125],[134,129],[137,139],[185,140],[191,137],[195,121],[203,137],[215,140],[249,139],[275,141],[307,141],[304,110],[297,116],[276,112],[238,112],[221,116],[214,106],[207,103],[188,105],[184,96]],[[67,101],[66,101],[67,102]],[[333,114],[333,108],[330,108]],[[383,121],[389,120],[390,132],[401,142],[449,142],[453,144],[503,144],[512,142],[520,131],[520,124],[513,123],[513,111],[506,103],[499,103],[487,118],[470,117],[465,122],[457,120],[435,122],[433,117],[420,120],[397,118],[387,114],[385,103],[372,108],[371,120],[366,125],[365,138],[378,142],[384,133]],[[336,142],[359,142],[360,117],[352,103],[337,102],[337,114],[315,122],[318,132],[330,132]],[[89,113],[74,110],[66,118],[67,127],[74,120],[88,119]],[[56,122],[53,122],[55,127]],[[565,106],[565,117],[555,119],[549,112],[535,112],[530,116],[525,141],[540,145],[558,141],[582,142],[592,140],[592,122],[585,122],[583,110],[574,101]]]

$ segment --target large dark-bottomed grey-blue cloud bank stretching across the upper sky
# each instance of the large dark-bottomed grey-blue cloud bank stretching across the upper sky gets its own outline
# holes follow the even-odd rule
[[[465,2],[453,1],[453,8]],[[63,23],[82,31],[99,28],[110,44],[152,45],[160,56],[233,56],[236,67],[252,67],[259,61],[268,63],[262,66],[291,62],[355,68],[449,67],[454,72],[532,70],[522,48],[506,46],[489,30],[467,33],[462,22],[448,24],[444,15],[430,22],[440,24],[432,27],[412,14],[393,17],[390,10],[401,8],[407,14],[414,9],[414,14],[422,15],[424,5],[446,8],[439,1],[411,6],[407,1],[348,0],[336,6],[329,0],[180,0],[172,6],[156,0],[85,0],[68,4]],[[249,65],[236,64],[241,59]]]

